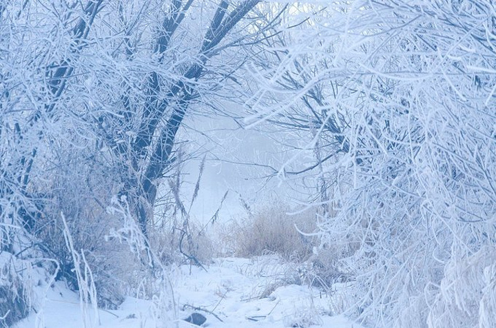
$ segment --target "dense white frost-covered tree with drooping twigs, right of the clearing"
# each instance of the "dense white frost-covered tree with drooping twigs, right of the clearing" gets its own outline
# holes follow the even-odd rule
[[[333,185],[320,228],[355,279],[348,310],[386,327],[493,327],[493,3],[300,10],[313,17],[254,70],[249,120],[320,144],[320,158],[280,175]]]

